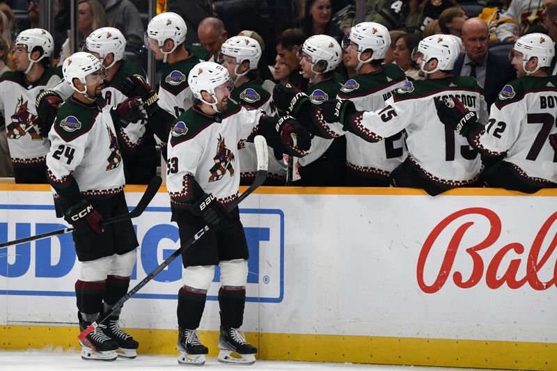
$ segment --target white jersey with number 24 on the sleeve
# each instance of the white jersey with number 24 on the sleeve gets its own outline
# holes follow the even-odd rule
[[[122,156],[110,107],[84,104],[74,97],[58,109],[49,133],[49,182],[56,190],[73,177],[84,196],[107,196],[122,191]]]

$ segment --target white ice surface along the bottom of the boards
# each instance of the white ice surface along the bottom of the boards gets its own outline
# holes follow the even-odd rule
[[[246,371],[471,371],[465,368],[428,368],[421,366],[359,365],[352,363],[313,363],[287,361],[257,361],[254,365],[223,365],[217,358],[207,358],[203,368],[178,365],[177,356],[139,355],[134,360],[117,359],[113,362],[83,361],[78,353],[65,352],[0,352],[3,371],[58,371],[58,370],[246,370]],[[478,371],[478,369],[474,369]],[[486,371],[486,370],[485,370]],[[499,370],[501,371],[501,370]]]

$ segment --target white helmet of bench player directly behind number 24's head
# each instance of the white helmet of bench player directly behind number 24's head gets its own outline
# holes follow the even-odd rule
[[[107,66],[111,68],[114,63],[124,58],[124,49],[126,47],[126,39],[120,30],[114,27],[101,27],[91,32],[86,40],[87,52],[95,52],[100,56],[101,63],[107,54],[114,55],[114,61]]]

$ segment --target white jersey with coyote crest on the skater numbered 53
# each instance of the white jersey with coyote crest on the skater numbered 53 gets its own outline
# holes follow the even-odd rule
[[[237,197],[240,164],[237,143],[256,132],[262,112],[228,100],[228,109],[207,116],[189,109],[175,120],[168,138],[166,188],[175,207],[193,201],[191,176],[223,205]]]

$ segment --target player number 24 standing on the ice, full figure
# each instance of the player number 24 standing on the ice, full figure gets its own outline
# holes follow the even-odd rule
[[[66,58],[62,69],[74,93],[58,109],[49,132],[47,173],[56,214],[75,228],[80,263],[75,292],[83,331],[126,294],[138,242],[129,219],[102,226],[102,219],[127,213],[118,130],[110,107],[97,104],[106,70],[85,52]],[[113,361],[116,351],[136,356],[138,342],[120,329],[119,315],[120,310],[81,342],[82,358]]]

